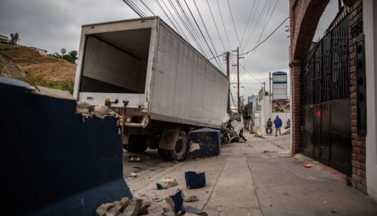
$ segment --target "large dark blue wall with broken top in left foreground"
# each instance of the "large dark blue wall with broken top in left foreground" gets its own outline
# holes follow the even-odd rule
[[[132,198],[115,118],[84,119],[75,100],[18,80],[0,77],[0,92],[5,214],[93,215],[104,202]]]

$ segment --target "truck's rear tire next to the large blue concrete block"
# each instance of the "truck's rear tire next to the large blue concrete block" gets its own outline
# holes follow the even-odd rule
[[[173,150],[166,150],[168,160],[184,161],[189,152],[189,136],[184,131],[179,131]]]

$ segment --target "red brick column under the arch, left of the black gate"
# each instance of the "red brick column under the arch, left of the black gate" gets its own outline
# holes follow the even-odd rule
[[[291,68],[292,154],[297,154],[301,151],[301,61],[293,60],[289,66]]]

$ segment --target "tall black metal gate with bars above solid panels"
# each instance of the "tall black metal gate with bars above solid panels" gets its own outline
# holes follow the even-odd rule
[[[343,11],[302,59],[304,155],[349,174],[351,103],[348,14]]]

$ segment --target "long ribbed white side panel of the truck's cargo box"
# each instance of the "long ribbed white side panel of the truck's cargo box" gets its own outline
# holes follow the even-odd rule
[[[229,118],[229,80],[162,21],[158,31],[150,118],[220,128]]]

